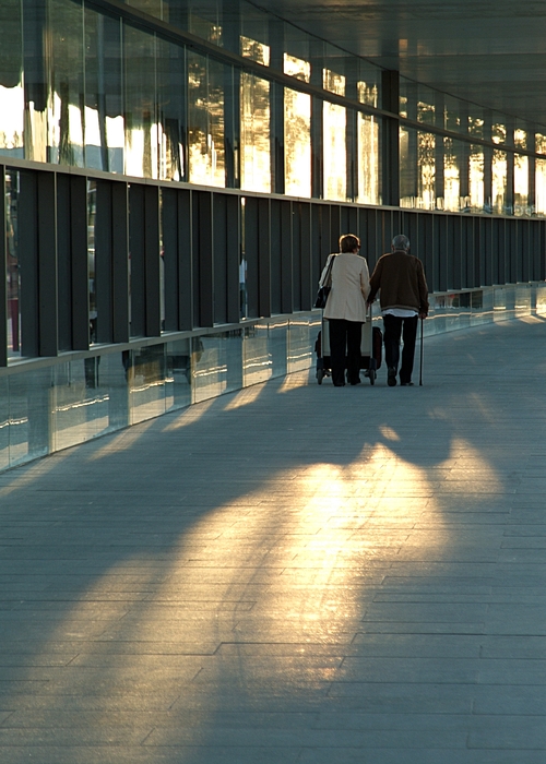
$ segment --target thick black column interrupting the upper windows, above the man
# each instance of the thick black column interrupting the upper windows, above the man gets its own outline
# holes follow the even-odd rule
[[[400,73],[384,70],[381,74],[381,107],[392,115],[400,112]],[[383,204],[400,205],[400,139],[399,120],[383,118],[381,133]]]

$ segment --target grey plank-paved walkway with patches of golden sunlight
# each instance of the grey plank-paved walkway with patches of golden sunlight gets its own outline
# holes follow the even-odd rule
[[[546,322],[425,357],[0,475],[0,762],[544,764]]]

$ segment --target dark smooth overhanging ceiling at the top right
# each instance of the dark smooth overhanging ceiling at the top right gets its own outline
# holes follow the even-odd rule
[[[546,1],[256,0],[387,69],[546,124]]]

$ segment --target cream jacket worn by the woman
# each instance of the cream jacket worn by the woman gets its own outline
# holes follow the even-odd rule
[[[328,296],[324,318],[365,322],[366,298],[370,290],[368,263],[353,252],[330,254],[320,277],[320,286],[328,286],[324,285],[324,279],[332,258],[332,290]]]

